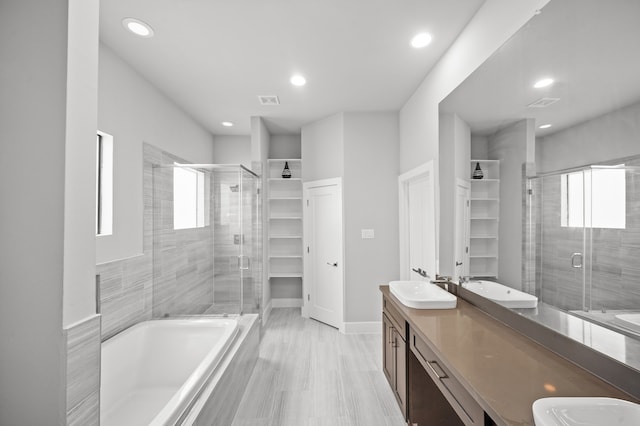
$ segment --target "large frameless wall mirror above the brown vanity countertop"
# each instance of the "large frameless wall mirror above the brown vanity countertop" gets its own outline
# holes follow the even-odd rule
[[[475,160],[499,162],[495,205],[471,207],[468,274],[497,265],[492,280],[538,297],[521,315],[640,371],[638,16],[637,0],[552,0],[440,114],[468,132],[472,203]]]

